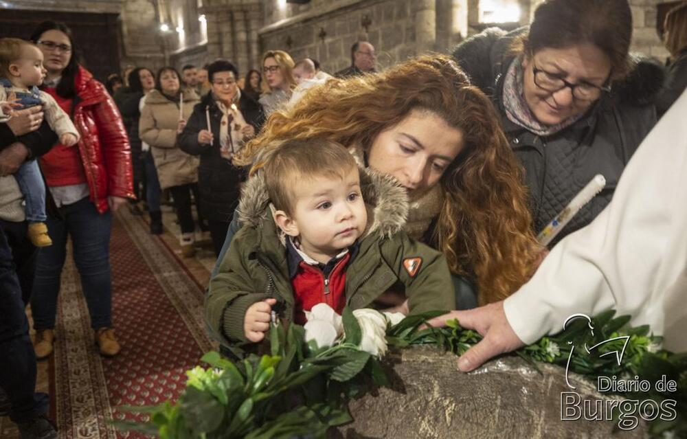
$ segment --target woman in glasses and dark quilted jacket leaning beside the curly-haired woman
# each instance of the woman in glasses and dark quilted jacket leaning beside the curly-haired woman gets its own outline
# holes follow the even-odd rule
[[[501,114],[525,168],[536,232],[596,174],[605,177],[605,189],[552,244],[606,207],[656,122],[647,103],[662,69],[631,59],[631,36],[627,0],[548,0],[528,30],[488,29],[453,53]]]

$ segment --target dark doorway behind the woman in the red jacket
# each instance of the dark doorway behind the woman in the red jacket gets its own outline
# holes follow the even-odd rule
[[[104,82],[108,74],[120,71],[117,14],[5,9],[0,14],[0,37],[28,39],[38,23],[46,20],[63,21],[71,28],[83,65],[96,79]]]

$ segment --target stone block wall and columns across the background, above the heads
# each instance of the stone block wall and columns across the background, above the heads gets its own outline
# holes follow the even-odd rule
[[[517,1],[521,19],[513,27],[529,23],[542,1]],[[629,0],[633,51],[664,60],[667,52],[655,30],[661,1]],[[266,0],[262,6],[261,51],[283,49],[294,60],[309,56],[325,71],[350,65],[354,41],[370,41],[383,68],[429,50],[447,52],[484,28],[479,0],[312,0],[305,5]]]

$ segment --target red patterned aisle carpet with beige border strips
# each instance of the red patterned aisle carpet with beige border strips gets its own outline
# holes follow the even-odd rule
[[[117,357],[98,355],[71,260],[63,272],[51,385],[60,438],[138,437],[106,422],[124,418],[113,409],[177,398],[183,372],[212,349],[201,286],[141,218],[124,211],[111,240],[113,320],[122,343]]]

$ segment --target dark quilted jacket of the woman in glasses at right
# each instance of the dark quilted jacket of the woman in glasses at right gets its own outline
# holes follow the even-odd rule
[[[627,161],[656,123],[651,102],[664,72],[657,63],[636,62],[631,74],[613,84],[611,93],[602,95],[581,120],[554,135],[539,136],[508,120],[502,98],[504,77],[515,58],[510,45],[523,32],[527,29],[510,33],[485,30],[458,45],[453,58],[473,84],[492,99],[501,115],[506,137],[525,171],[535,233],[541,232],[594,175],[605,177],[605,189],[578,212],[553,245],[589,224],[611,201]]]

